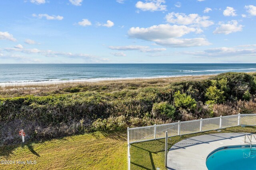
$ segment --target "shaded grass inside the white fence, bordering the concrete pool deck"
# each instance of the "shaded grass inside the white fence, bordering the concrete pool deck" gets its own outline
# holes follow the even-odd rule
[[[168,148],[175,143],[194,136],[206,135],[211,133],[233,133],[233,132],[248,132],[256,133],[256,127],[230,127],[222,129],[222,132],[208,131],[205,133],[195,133],[190,135],[182,135],[171,137],[168,139]],[[141,143],[131,144],[131,170],[165,170],[164,167],[164,147],[165,139],[146,141]]]

